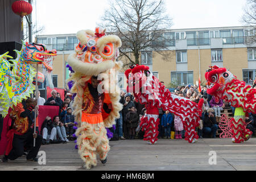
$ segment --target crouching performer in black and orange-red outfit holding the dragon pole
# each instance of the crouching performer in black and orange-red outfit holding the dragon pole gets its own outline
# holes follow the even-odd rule
[[[42,136],[39,134],[34,134],[34,130],[31,127],[34,123],[34,109],[36,105],[37,101],[34,98],[28,98],[25,106],[19,103],[17,106],[15,106],[16,109],[14,112],[11,112],[11,114],[14,113],[15,115],[13,115],[11,130],[9,130],[7,133],[10,143],[7,146],[6,155],[3,156],[3,162],[7,162],[8,159],[15,160],[22,156],[24,147],[31,148],[31,150],[28,152],[27,160],[35,162],[38,161],[36,156],[38,155],[38,151],[41,146]],[[24,110],[24,107],[26,107],[26,110]],[[20,117],[19,120],[17,117]],[[22,121],[22,123],[20,123],[20,121]],[[23,125],[24,122],[27,122],[27,125]],[[36,139],[35,147],[33,146],[34,138]]]

